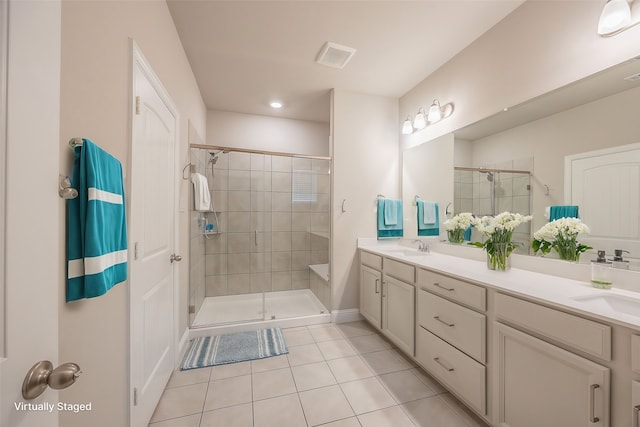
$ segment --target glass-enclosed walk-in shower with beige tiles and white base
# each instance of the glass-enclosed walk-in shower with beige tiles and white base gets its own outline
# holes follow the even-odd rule
[[[192,144],[190,163],[211,200],[189,192],[191,327],[327,321],[330,159]]]

